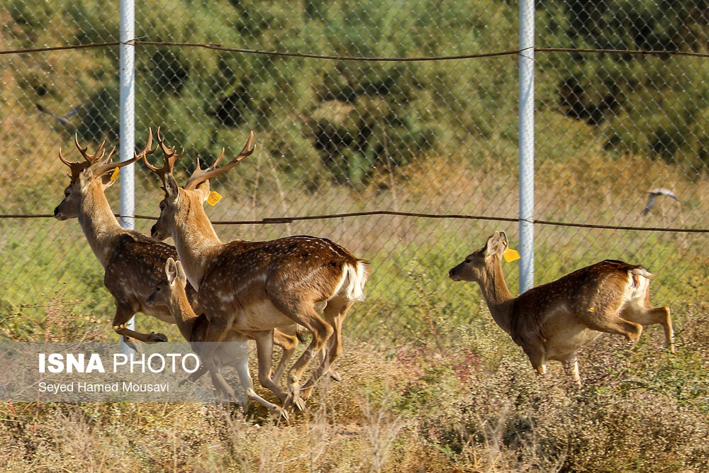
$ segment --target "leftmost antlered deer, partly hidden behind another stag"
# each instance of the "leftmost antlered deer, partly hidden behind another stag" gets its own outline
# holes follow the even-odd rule
[[[78,218],[84,230],[91,250],[104,267],[104,285],[116,302],[113,316],[113,330],[123,335],[128,343],[137,339],[145,343],[166,342],[162,333],[140,333],[130,330],[126,323],[137,312],[154,316],[161,321],[174,323],[174,318],[164,304],[147,301],[152,288],[164,279],[164,267],[167,258],[177,257],[174,247],[157,242],[143,233],[122,228],[108,205],[104,191],[113,184],[111,172],[155,152],[152,147],[152,132],[147,145],[140,153],[134,152],[131,160],[111,162],[113,150],[107,157],[104,141],[93,155],[87,152],[88,146],[79,145],[77,135],[74,144],[84,157],[81,162],[69,162],[59,150],[59,159],[69,167],[71,182],[64,191],[64,200],[54,209],[57,220]],[[157,148],[156,148],[157,150]],[[187,294],[196,304],[196,292],[190,287]],[[133,345],[140,349],[138,345]]]

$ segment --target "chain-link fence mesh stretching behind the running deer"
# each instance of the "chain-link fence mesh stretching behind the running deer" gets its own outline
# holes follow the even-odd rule
[[[0,7],[5,52],[111,43],[0,55],[6,331],[32,330],[57,310],[96,316],[110,331],[111,296],[78,223],[19,216],[50,214],[61,201],[69,179],[57,150],[77,160],[74,133],[91,149],[121,145],[118,8]],[[537,284],[614,258],[657,274],[658,304],[680,314],[703,307],[705,236],[625,227],[709,228],[709,62],[648,53],[707,52],[709,3],[539,1],[536,16],[535,218],[612,227],[537,225]],[[184,179],[196,157],[209,164],[224,147],[228,159],[255,132],[257,152],[211,186],[225,197],[207,209],[222,240],[318,235],[369,260],[350,337],[442,338],[486,317],[477,288],[453,284],[447,270],[493,230],[517,239],[518,57],[450,57],[514,52],[517,4],[161,0],[136,5],[135,17],[136,148],[162,126],[167,143],[186,150],[176,167]],[[135,186],[136,214],[157,216],[162,191],[142,165]],[[106,194],[117,212],[118,189]],[[372,211],[429,216],[233,223]],[[431,217],[453,215],[503,220]],[[151,225],[136,222],[145,233]],[[514,292],[517,267],[505,269]],[[167,333],[145,316],[138,327]]]

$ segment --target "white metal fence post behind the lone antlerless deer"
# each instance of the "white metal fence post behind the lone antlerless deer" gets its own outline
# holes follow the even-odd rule
[[[520,293],[534,286],[534,1],[520,1]]]

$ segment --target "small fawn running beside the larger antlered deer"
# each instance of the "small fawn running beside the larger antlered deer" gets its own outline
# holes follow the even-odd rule
[[[177,322],[177,327],[185,340],[189,342],[195,353],[200,355],[203,362],[203,367],[206,367],[209,372],[212,384],[218,393],[223,394],[229,400],[237,400],[242,407],[242,411],[247,411],[247,401],[242,396],[235,394],[232,387],[226,382],[221,373],[223,365],[235,367],[241,386],[244,389],[248,399],[259,402],[267,408],[271,413],[278,417],[288,419],[286,411],[279,406],[270,403],[266,399],[256,394],[254,383],[249,372],[249,350],[247,337],[231,332],[226,337],[223,343],[205,355],[207,345],[204,342],[209,321],[202,313],[197,315],[194,313],[187,294],[185,286],[187,285],[187,277],[182,269],[182,263],[168,258],[164,267],[165,279],[155,287],[153,293],[148,297],[149,301],[158,304],[164,304],[169,308],[170,313],[174,316]],[[196,374],[196,376],[194,376]],[[193,373],[190,377],[198,378],[198,372]]]

